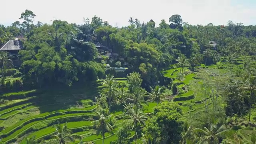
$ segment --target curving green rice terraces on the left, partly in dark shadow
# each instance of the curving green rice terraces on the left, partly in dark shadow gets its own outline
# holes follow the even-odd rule
[[[126,78],[116,78],[119,84],[126,84]],[[25,144],[24,137],[35,136],[38,142],[49,140],[55,132],[54,124],[67,122],[71,134],[82,136],[84,142],[93,141],[102,143],[102,136],[96,135],[92,128],[92,122],[97,119],[93,105],[94,97],[104,88],[103,80],[94,84],[94,89],[77,88],[76,90],[65,90],[56,92],[40,92],[36,90],[9,93],[2,97],[14,97],[35,93],[37,96],[9,100],[0,105],[0,138],[1,144],[18,142]],[[150,113],[156,103],[144,106],[144,112]],[[122,110],[116,110],[113,117],[122,114]],[[117,120],[112,133],[106,133],[104,143],[108,144],[116,139],[115,132],[123,120]],[[132,132],[134,134],[134,132]],[[75,142],[79,143],[79,141]]]

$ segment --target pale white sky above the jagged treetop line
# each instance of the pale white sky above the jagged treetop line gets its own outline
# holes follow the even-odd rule
[[[168,22],[180,14],[189,24],[225,24],[228,20],[256,25],[256,0],[0,0],[0,24],[17,21],[26,9],[37,16],[36,21],[66,20],[82,24],[83,18],[94,15],[113,26],[126,26],[130,17],[140,22],[162,19]]]

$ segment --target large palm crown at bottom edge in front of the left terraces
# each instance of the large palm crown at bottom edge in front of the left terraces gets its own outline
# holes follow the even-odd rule
[[[67,144],[68,142],[75,142],[75,139],[82,139],[79,135],[76,134],[68,134],[68,127],[67,123],[54,125],[55,127],[55,134],[52,135],[52,139],[49,143],[59,143],[59,144]]]

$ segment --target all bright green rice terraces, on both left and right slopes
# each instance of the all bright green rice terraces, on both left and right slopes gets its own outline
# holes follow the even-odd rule
[[[231,66],[239,66],[238,63]],[[197,66],[195,68],[221,68],[224,72],[227,64],[225,62],[218,63],[217,66]],[[188,68],[184,68],[184,72]],[[194,80],[195,73],[184,76],[182,81],[177,80],[180,68],[171,68],[166,70],[164,76],[170,78],[174,86],[178,89],[174,102],[182,106],[185,116],[188,115],[188,103],[192,102],[192,110],[190,112],[198,112],[204,110],[204,103],[200,102],[204,99],[202,95],[196,94],[190,88],[190,82]],[[119,85],[126,85],[126,78],[116,78]],[[46,90],[37,92],[30,90],[26,92],[9,93],[0,96],[9,101],[0,104],[0,144],[10,144],[18,142],[25,144],[24,137],[31,138],[36,136],[38,142],[49,140],[54,133],[54,124],[59,121],[61,124],[67,122],[68,130],[71,134],[82,136],[84,142],[102,143],[102,136],[97,135],[92,128],[92,121],[97,117],[94,112],[95,106],[93,100],[98,92],[104,88],[103,80],[98,80],[92,88],[81,86],[73,89]],[[11,100],[11,98],[14,98]],[[210,103],[208,103],[210,105]],[[153,112],[156,103],[149,103],[144,106],[145,113]],[[122,109],[116,110],[114,116],[122,114]],[[118,126],[123,122],[122,119],[117,120],[112,133],[106,133],[104,143],[109,144],[116,139],[115,132]],[[246,131],[246,130],[244,130]],[[241,130],[243,132],[243,130]],[[134,132],[131,132],[134,135]],[[140,140],[136,140],[141,142]],[[79,143],[76,141],[74,144]]]

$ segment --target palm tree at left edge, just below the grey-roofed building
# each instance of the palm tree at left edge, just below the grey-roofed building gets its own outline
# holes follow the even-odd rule
[[[2,64],[2,77],[4,80],[4,72],[5,68],[9,66],[13,66],[12,60],[10,59],[13,56],[8,56],[7,52],[0,51],[0,64]]]

